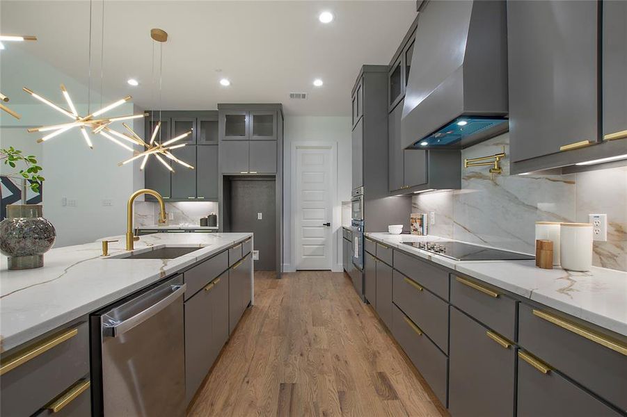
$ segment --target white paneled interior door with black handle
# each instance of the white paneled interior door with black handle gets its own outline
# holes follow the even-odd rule
[[[333,147],[296,148],[296,269],[330,270],[333,261]]]

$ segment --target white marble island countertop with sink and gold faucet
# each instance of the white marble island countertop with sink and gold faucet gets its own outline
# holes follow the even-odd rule
[[[124,236],[109,244],[103,258],[100,242],[59,247],[44,255],[44,267],[7,270],[0,257],[0,352],[149,286],[197,261],[216,254],[249,233],[152,234],[135,242],[138,252],[164,245],[200,247],[176,259],[115,259],[128,253]]]

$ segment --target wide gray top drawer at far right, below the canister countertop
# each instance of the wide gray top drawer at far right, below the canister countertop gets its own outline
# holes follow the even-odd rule
[[[582,329],[588,335],[598,337],[598,341],[612,341],[617,349],[620,349],[619,346],[627,347],[625,338],[610,338],[596,329],[580,325],[577,320],[564,317],[565,315],[558,315],[548,309],[521,303],[518,318],[519,344],[599,397],[627,410],[627,350],[623,353],[617,352],[580,336],[576,331]]]

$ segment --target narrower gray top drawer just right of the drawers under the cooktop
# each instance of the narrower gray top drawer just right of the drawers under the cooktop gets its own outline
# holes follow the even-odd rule
[[[451,304],[510,341],[516,339],[516,300],[493,286],[451,274]]]

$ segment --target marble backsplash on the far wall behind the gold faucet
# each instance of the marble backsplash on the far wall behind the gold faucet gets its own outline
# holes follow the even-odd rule
[[[217,202],[172,202],[166,203],[166,213],[172,213],[169,225],[200,226],[200,218],[211,213],[218,214]],[[135,202],[135,227],[153,226],[159,220],[159,204],[156,202]]]

